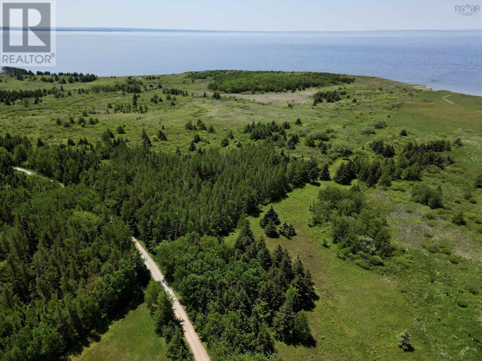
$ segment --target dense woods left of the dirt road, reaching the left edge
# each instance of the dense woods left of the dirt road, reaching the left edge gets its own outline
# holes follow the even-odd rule
[[[0,359],[59,360],[150,274],[93,190],[13,172],[8,155],[0,148]]]

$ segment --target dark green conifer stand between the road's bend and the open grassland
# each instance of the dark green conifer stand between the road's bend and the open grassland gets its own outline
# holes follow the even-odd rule
[[[95,144],[82,140],[77,146],[49,146],[40,140],[31,147],[15,138],[8,149],[16,165],[65,184],[94,187],[150,250],[191,231],[225,233],[242,213],[318,177],[315,162],[279,154],[269,141],[227,153],[211,148],[180,155],[150,152],[144,133],[138,148],[114,139],[111,131],[104,133]]]

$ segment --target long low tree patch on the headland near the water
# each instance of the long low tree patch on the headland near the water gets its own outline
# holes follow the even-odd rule
[[[353,81],[355,81],[355,78],[342,74],[232,70],[215,73],[208,89],[225,93],[241,93],[244,91],[281,92],[334,84],[348,84]]]

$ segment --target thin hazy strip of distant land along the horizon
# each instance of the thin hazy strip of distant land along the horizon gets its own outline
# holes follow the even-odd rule
[[[1,27],[8,30],[7,26]],[[10,30],[19,31],[20,27]],[[38,28],[37,30],[42,30]],[[49,30],[47,28],[43,30]],[[481,31],[482,29],[410,29],[410,30],[198,30],[198,29],[153,29],[140,27],[57,27],[56,31],[85,31],[85,32],[151,32],[151,33],[377,33],[377,32],[446,32],[446,31]]]

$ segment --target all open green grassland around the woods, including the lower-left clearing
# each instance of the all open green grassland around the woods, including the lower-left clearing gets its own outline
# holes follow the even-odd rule
[[[35,141],[41,137],[47,142],[65,142],[68,138],[78,142],[80,137],[94,141],[105,129],[115,133],[115,129],[124,125],[131,144],[139,143],[141,131],[146,129],[154,149],[174,151],[178,146],[183,153],[196,132],[206,141],[200,143],[201,147],[219,146],[229,130],[234,135],[230,144],[250,142],[249,134],[243,134],[242,130],[253,121],[289,121],[290,131],[301,137],[311,131],[333,129],[335,138],[331,142],[346,143],[354,150],[379,137],[396,147],[401,142],[402,129],[407,130],[408,139],[416,142],[460,138],[464,146],[446,152],[453,157],[454,164],[423,174],[423,181],[432,187],[442,186],[444,208],[430,210],[413,202],[410,193],[413,182],[393,181],[388,188],[369,189],[362,185],[369,202],[387,216],[393,242],[406,249],[403,257],[389,260],[382,269],[367,271],[352,261],[337,258],[335,245],[331,242],[328,248],[321,245],[322,236],[330,239],[330,229],[308,226],[310,204],[321,187],[333,182],[307,184],[273,205],[282,222],[294,224],[297,235],[292,239],[268,238],[268,246],[281,244],[292,255],[299,254],[312,272],[320,297],[309,317],[316,345],[307,348],[278,342],[277,349],[284,360],[481,360],[482,299],[481,293],[473,292],[482,288],[482,191],[473,187],[473,179],[482,169],[481,97],[425,90],[387,79],[355,77],[354,83],[342,86],[350,98],[336,103],[312,106],[312,94],[318,88],[294,93],[221,94],[221,99],[215,100],[207,90],[208,81],[192,83],[185,76],[162,76],[154,80],[168,88],[187,90],[188,96],[176,96],[175,105],[171,105],[162,90],[147,88],[138,101],[147,104],[145,114],[114,113],[108,108],[109,103],[114,106],[132,102],[132,94],[120,92],[73,92],[72,96],[60,99],[44,97],[40,105],[25,106],[21,102],[2,105],[0,132],[26,135]],[[38,81],[7,80],[0,83],[0,89],[53,86]],[[67,84],[64,88],[73,91],[125,80],[100,78],[93,83]],[[149,82],[145,81],[147,87]],[[163,98],[163,102],[150,102],[154,94]],[[353,98],[358,102],[353,103]],[[289,103],[293,107],[288,107]],[[99,123],[85,127],[72,124],[68,128],[56,125],[56,118],[64,122],[73,116],[77,120],[83,111],[88,113],[87,118],[97,117]],[[298,117],[302,125],[295,126]],[[212,124],[215,133],[185,128],[188,120],[195,124],[198,119],[207,126]],[[382,120],[387,123],[386,128],[375,129],[375,134],[362,133]],[[162,126],[167,142],[156,139]],[[342,161],[332,163],[328,155],[305,146],[303,141],[295,150],[284,148],[284,152],[315,156],[320,163],[330,162],[332,175]],[[268,207],[264,206],[262,211]],[[465,212],[465,226],[451,222],[458,210]],[[261,235],[259,216],[249,219],[254,233]],[[234,242],[236,232],[227,237],[227,242]],[[450,254],[431,252],[430,246],[439,244],[448,245]],[[100,342],[91,344],[74,360],[161,360],[163,344],[149,322],[144,306],[131,311],[125,319],[114,323]],[[404,352],[397,346],[397,336],[404,329],[412,336],[413,352]],[[132,331],[139,335],[135,342]],[[130,348],[126,340],[135,347]]]

